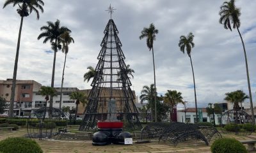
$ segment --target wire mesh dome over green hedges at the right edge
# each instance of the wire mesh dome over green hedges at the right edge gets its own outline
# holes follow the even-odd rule
[[[227,110],[221,115],[221,131],[224,134],[251,135],[255,131],[252,117],[243,110]]]

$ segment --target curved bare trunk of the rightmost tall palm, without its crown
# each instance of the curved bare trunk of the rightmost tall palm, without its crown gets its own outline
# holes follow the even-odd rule
[[[236,24],[237,27],[237,24]],[[248,70],[248,64],[247,64],[247,56],[246,56],[246,51],[244,47],[244,41],[241,36],[241,33],[239,31],[239,28],[237,27],[237,31],[239,33],[239,36],[241,38],[242,44],[243,44],[243,49],[244,49],[244,59],[245,59],[245,66],[246,66],[246,75],[247,75],[247,83],[248,83],[248,91],[249,91],[249,98],[250,98],[250,107],[251,107],[251,112],[252,112],[252,122],[255,124],[255,119],[254,119],[254,110],[253,110],[253,103],[252,103],[252,91],[251,91],[251,85],[250,85],[250,77],[249,77],[249,70]]]

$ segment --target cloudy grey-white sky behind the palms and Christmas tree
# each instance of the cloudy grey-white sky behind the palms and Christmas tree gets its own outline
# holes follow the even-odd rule
[[[109,20],[109,4],[116,8],[112,17],[120,32],[125,63],[134,69],[132,89],[140,96],[143,85],[154,82],[152,53],[146,41],[139,40],[143,27],[154,23],[159,34],[154,41],[156,86],[159,94],[168,89],[182,92],[194,106],[193,77],[189,57],[180,52],[181,35],[195,35],[191,57],[195,71],[198,106],[223,101],[226,92],[243,90],[248,94],[243,47],[236,29],[229,31],[219,24],[221,0],[44,0],[44,13],[24,18],[17,79],[51,84],[53,53],[50,43],[37,40],[40,27],[47,21],[72,30],[75,43],[70,45],[65,69],[65,87],[90,89],[83,82],[88,66],[96,66],[103,31]],[[3,6],[4,1],[0,2]],[[253,101],[256,91],[256,18],[255,0],[237,0],[241,8],[241,27],[246,45]],[[20,17],[12,5],[0,9],[0,80],[13,77]],[[55,87],[61,85],[65,55],[57,53]],[[90,83],[90,82],[89,82]]]

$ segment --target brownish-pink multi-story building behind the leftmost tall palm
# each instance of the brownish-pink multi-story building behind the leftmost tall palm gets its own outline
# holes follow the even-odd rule
[[[31,113],[33,92],[38,91],[42,85],[34,80],[16,80],[13,112],[14,115],[29,115]],[[12,79],[0,80],[0,96],[10,105],[12,92]],[[20,111],[22,109],[22,111]],[[8,114],[8,107],[3,115]]]

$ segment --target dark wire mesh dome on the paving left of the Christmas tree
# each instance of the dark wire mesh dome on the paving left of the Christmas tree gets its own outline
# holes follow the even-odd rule
[[[27,132],[29,138],[60,139],[67,132],[67,118],[57,108],[40,108],[29,115]]]

